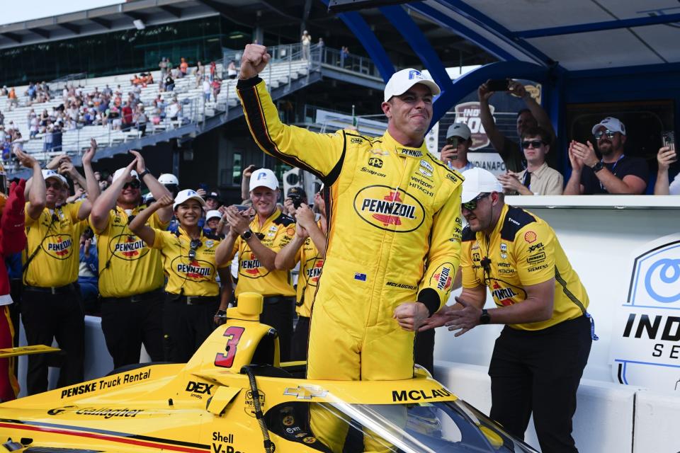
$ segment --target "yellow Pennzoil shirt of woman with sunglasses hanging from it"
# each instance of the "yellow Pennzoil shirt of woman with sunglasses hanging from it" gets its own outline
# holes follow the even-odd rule
[[[191,238],[181,227],[177,231],[175,234],[154,229],[156,237],[152,247],[161,251],[163,256],[163,268],[168,276],[166,292],[185,296],[220,295],[220,285],[215,280],[217,277],[215,249],[220,245],[220,239],[201,233],[196,258],[191,260],[189,258]],[[227,268],[229,265],[231,263],[225,263],[220,268]]]

